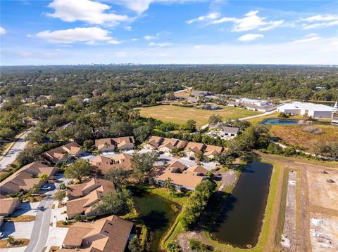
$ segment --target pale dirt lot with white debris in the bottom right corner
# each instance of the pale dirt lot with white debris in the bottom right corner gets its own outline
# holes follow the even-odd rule
[[[310,218],[312,251],[338,251],[338,216],[311,213]]]

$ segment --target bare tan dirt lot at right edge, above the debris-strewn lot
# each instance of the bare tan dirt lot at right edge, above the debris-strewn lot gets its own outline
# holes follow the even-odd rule
[[[311,205],[338,211],[338,170],[309,168],[308,197]],[[333,180],[334,183],[328,183]]]

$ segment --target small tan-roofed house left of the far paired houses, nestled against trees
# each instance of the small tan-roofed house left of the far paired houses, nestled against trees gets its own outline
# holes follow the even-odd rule
[[[44,157],[56,163],[64,159],[70,159],[72,156],[79,157],[82,153],[80,145],[77,145],[76,142],[68,142],[66,145],[44,152]]]

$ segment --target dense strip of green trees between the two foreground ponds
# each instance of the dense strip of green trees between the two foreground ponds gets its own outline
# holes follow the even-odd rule
[[[215,192],[216,188],[215,181],[204,180],[192,192],[180,217],[180,223],[184,227],[184,230],[191,230],[196,225],[201,213],[203,213],[204,208],[208,204],[208,199]]]

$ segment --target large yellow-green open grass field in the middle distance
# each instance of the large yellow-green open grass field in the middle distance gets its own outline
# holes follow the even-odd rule
[[[194,119],[197,127],[208,124],[208,119],[212,114],[220,114],[223,119],[250,117],[256,114],[262,114],[262,112],[225,106],[221,106],[221,110],[201,110],[193,107],[159,105],[154,107],[141,107],[138,108],[138,110],[142,117],[153,117],[161,121],[171,121],[176,124],[184,124],[185,121]]]

